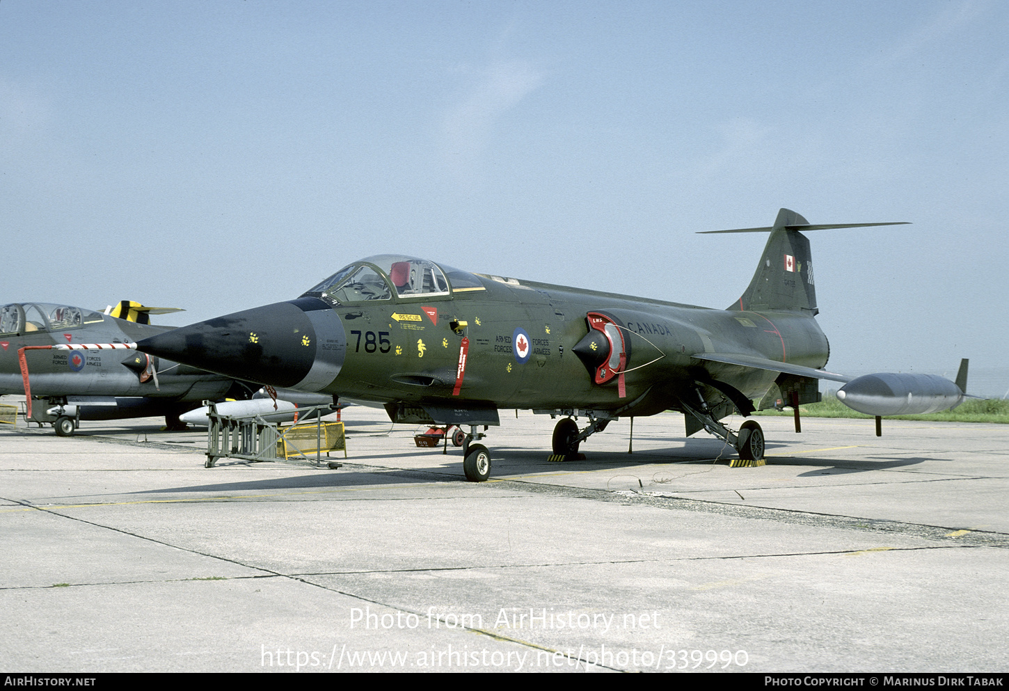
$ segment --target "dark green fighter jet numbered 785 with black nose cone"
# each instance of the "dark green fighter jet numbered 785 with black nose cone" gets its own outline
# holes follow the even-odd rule
[[[850,382],[844,399],[872,415],[895,401],[944,410],[962,399],[941,377],[886,374],[888,388],[823,369],[829,351],[803,232],[883,225],[897,224],[811,225],[782,209],[771,227],[708,231],[770,233],[749,287],[725,310],[380,255],[297,300],[137,347],[226,376],[382,404],[397,423],[468,426],[463,469],[473,481],[489,476],[490,454],[473,442],[485,436],[479,427],[499,424],[499,409],[559,416],[557,458],[619,418],[671,410],[684,414],[687,436],[706,430],[740,464],[762,465],[760,425],[720,421],[750,417],[769,392],[797,409],[820,399],[819,379]]]

